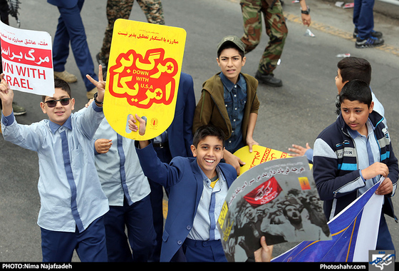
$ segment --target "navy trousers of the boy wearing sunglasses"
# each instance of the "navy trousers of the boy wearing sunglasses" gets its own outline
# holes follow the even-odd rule
[[[107,262],[103,217],[91,223],[83,232],[56,232],[41,228],[43,262],[71,262],[73,251],[81,262]]]

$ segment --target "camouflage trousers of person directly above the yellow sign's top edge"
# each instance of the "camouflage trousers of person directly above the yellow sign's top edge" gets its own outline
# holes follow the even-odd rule
[[[145,14],[147,21],[151,24],[165,24],[161,0],[136,0]],[[105,29],[103,47],[100,49],[98,58],[108,65],[110,47],[113,34],[113,24],[117,19],[129,19],[134,0],[108,0],[107,19],[108,26]]]

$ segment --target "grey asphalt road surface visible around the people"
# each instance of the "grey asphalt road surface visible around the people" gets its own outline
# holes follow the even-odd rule
[[[56,31],[58,10],[46,1],[22,1],[21,28]],[[399,147],[399,24],[398,21],[375,15],[375,29],[383,31],[385,46],[356,49],[351,9],[341,9],[331,1],[307,0],[311,7],[314,37],[306,36],[306,26],[300,24],[299,4],[286,0],[285,16],[289,36],[286,39],[281,64],[275,76],[283,80],[281,88],[259,85],[261,102],[254,138],[259,144],[278,150],[287,150],[292,143],[304,145],[314,140],[323,128],[332,123],[336,97],[336,63],[339,53],[351,53],[368,59],[373,67],[371,86],[385,107],[390,136],[394,149]],[[82,16],[93,59],[98,53],[106,26],[105,0],[86,0]],[[195,81],[197,99],[203,81],[219,71],[216,46],[223,36],[242,35],[242,17],[238,0],[167,0],[163,3],[167,25],[182,27],[187,31],[185,57],[182,70]],[[392,5],[390,11],[398,11]],[[145,21],[135,3],[130,19]],[[10,18],[11,26],[16,26]],[[247,55],[244,73],[254,75],[268,37],[263,34],[261,44]],[[71,53],[66,69],[78,76],[78,68]],[[86,103],[86,93],[81,78],[71,85],[76,98],[76,108]],[[15,101],[27,109],[17,116],[19,123],[30,124],[46,118],[39,108],[40,97],[16,91]],[[38,159],[36,153],[24,150],[0,138],[0,262],[41,261],[40,229],[36,224],[40,198],[37,192]],[[398,196],[393,199],[399,210]],[[399,247],[398,224],[388,220],[396,247]],[[295,244],[276,245],[279,255]],[[73,258],[78,261],[78,257]]]

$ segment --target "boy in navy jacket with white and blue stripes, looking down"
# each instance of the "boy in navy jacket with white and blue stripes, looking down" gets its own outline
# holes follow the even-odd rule
[[[360,80],[349,81],[339,95],[341,114],[314,143],[314,180],[324,201],[327,220],[381,180],[384,195],[376,250],[395,250],[384,213],[395,217],[391,197],[398,182],[395,158],[383,117],[373,111],[371,89]]]

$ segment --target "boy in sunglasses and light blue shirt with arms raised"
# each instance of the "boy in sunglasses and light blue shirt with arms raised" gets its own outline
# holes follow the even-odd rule
[[[100,67],[101,70],[101,67]],[[43,262],[70,262],[76,250],[82,262],[107,261],[103,215],[108,200],[94,165],[93,135],[103,120],[105,82],[95,81],[95,103],[72,113],[75,100],[68,83],[55,80],[53,97],[40,104],[48,119],[29,126],[16,123],[14,92],[1,74],[1,128],[5,140],[38,153]]]

